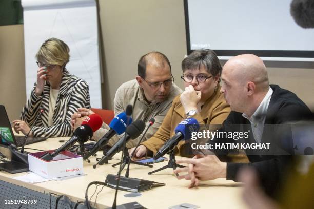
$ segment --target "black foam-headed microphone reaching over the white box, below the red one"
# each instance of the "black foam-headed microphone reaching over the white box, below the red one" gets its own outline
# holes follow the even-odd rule
[[[45,153],[44,155],[40,156],[40,158],[50,161],[53,159],[53,157],[57,156],[62,151],[72,147],[77,141],[80,141],[80,143],[84,143],[90,140],[93,137],[93,134],[93,130],[87,124],[77,127],[74,131],[73,136],[66,143],[64,143],[60,148],[56,149],[53,153]]]

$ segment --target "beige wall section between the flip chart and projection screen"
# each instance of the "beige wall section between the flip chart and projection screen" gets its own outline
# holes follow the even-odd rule
[[[100,2],[104,41],[105,86],[111,108],[115,90],[137,75],[139,58],[160,51],[170,60],[175,82],[180,80],[186,52],[183,1],[107,0]],[[108,96],[106,95],[106,96]]]

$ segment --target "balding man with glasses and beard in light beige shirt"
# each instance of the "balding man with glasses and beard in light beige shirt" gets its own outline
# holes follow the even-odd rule
[[[155,119],[153,126],[146,132],[143,141],[149,139],[159,128],[166,113],[171,107],[172,100],[182,90],[173,83],[171,65],[168,58],[161,52],[150,52],[143,55],[138,63],[138,76],[136,79],[123,83],[116,91],[114,97],[114,114],[126,111],[127,105],[133,106],[132,120],[143,120],[148,126],[151,118]],[[86,108],[78,108],[72,115],[73,128],[80,126],[84,117],[93,114]],[[94,133],[94,139],[101,139],[109,130],[103,123],[101,129]],[[127,143],[127,148],[135,147],[142,134]],[[114,145],[120,136],[114,135],[108,145]]]

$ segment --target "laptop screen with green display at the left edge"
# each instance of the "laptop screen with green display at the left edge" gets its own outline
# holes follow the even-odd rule
[[[8,143],[15,144],[11,123],[8,114],[3,105],[0,105],[0,144],[7,145]]]

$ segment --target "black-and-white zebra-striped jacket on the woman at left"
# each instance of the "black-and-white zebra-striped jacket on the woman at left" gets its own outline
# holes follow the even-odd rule
[[[22,110],[21,120],[26,121],[28,126],[31,127],[40,110],[43,109],[44,112],[32,128],[33,135],[40,137],[70,136],[72,134],[71,115],[77,112],[77,108],[90,108],[87,82],[71,75],[64,69],[52,116],[53,125],[50,127],[48,127],[50,85],[46,82],[44,92],[41,96],[36,96],[35,87],[36,83],[32,89],[30,98]]]

